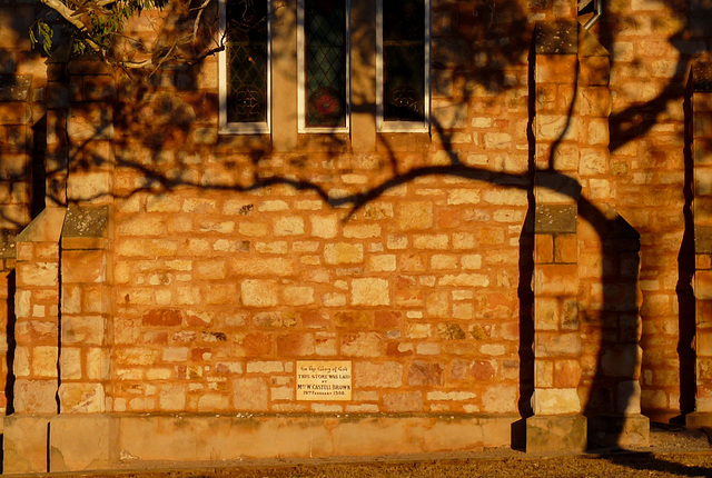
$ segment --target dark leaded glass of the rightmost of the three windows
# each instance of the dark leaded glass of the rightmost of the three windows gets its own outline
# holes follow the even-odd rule
[[[384,120],[425,120],[423,0],[383,0]]]

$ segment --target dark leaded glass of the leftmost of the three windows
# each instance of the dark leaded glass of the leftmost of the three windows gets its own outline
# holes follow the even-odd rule
[[[227,120],[267,121],[267,2],[227,3]]]

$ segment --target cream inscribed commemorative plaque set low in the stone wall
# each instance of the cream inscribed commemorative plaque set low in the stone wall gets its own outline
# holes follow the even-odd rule
[[[349,360],[297,360],[297,400],[350,400]]]

